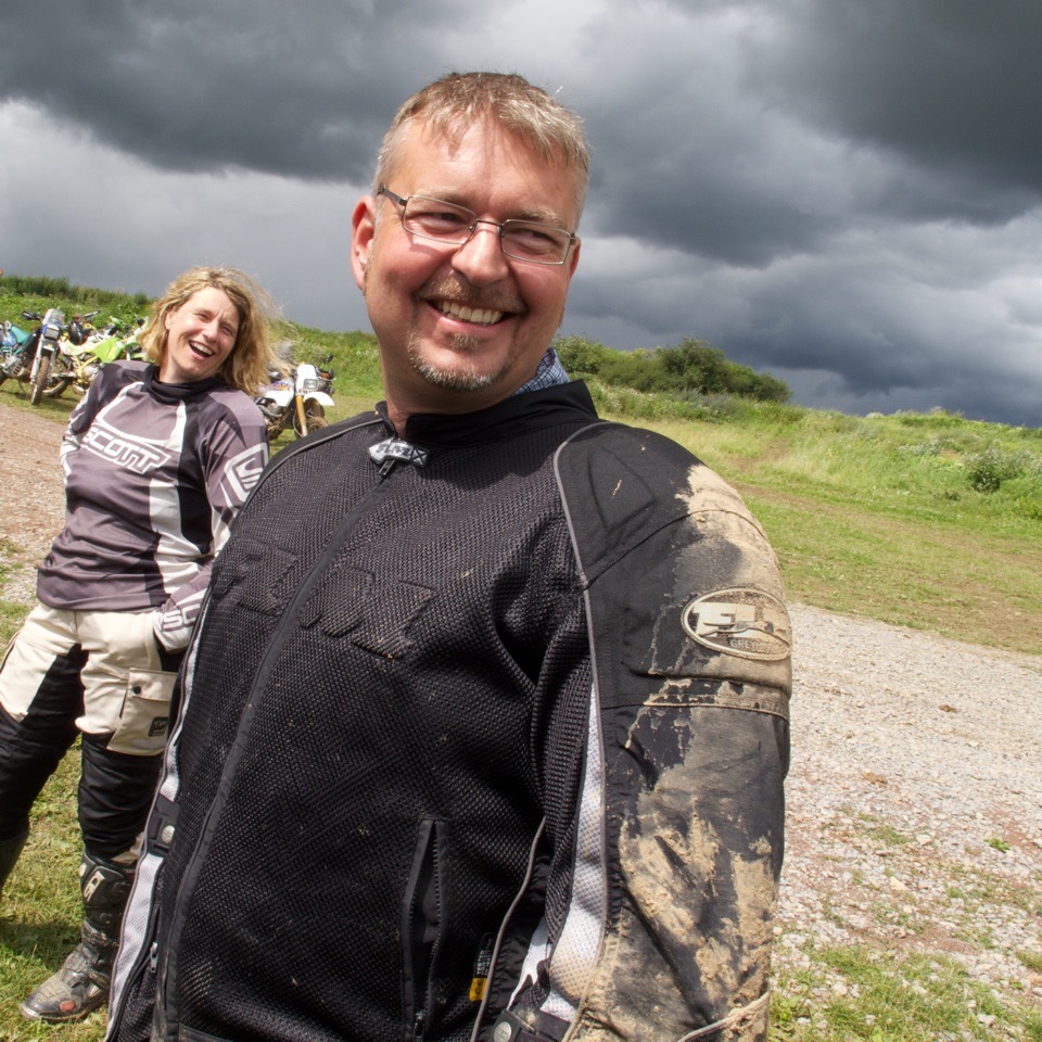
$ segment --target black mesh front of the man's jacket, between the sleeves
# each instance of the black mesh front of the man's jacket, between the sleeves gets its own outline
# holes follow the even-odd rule
[[[475,965],[580,739],[561,691],[588,690],[588,672],[561,683],[588,658],[552,454],[595,417],[548,409],[519,433],[505,415],[509,437],[433,446],[382,480],[382,424],[327,436],[241,512],[178,739],[168,1027],[383,1039],[422,1018],[469,1037]],[[576,732],[552,750],[551,712]]]

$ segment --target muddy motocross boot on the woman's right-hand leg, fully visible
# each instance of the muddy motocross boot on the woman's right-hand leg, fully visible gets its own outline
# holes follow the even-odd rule
[[[59,1024],[79,1020],[105,1004],[132,881],[132,866],[92,857],[84,851],[79,866],[84,894],[79,943],[62,968],[22,1003],[18,1009],[23,1017]]]

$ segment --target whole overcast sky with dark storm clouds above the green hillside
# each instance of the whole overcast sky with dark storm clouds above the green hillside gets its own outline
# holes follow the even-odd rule
[[[594,150],[564,332],[1042,425],[1039,0],[2,0],[0,38],[9,274],[232,264],[368,329],[351,211],[394,111],[518,72]]]

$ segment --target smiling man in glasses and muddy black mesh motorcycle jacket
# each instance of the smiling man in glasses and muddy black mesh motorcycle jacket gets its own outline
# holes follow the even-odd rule
[[[765,1037],[782,583],[550,347],[587,180],[521,77],[399,110],[352,242],[386,397],[280,454],[216,562],[113,1042]]]

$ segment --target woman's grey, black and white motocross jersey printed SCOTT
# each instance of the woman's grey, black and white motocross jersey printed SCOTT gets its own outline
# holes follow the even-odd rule
[[[188,643],[208,564],[267,461],[264,418],[218,379],[161,383],[154,366],[105,366],[62,444],[65,525],[37,595],[68,610],[157,612]]]

